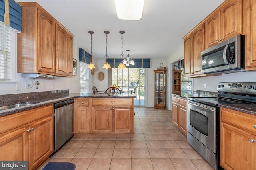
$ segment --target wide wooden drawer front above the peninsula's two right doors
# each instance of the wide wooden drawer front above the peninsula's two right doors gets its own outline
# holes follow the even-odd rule
[[[133,99],[93,99],[92,106],[132,106]]]

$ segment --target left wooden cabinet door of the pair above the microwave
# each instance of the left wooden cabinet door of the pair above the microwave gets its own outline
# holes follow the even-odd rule
[[[218,43],[220,39],[220,12],[216,12],[205,22],[206,49]]]

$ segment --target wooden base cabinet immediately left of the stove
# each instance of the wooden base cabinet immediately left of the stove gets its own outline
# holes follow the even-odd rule
[[[186,100],[172,96],[172,122],[187,136],[187,107]]]

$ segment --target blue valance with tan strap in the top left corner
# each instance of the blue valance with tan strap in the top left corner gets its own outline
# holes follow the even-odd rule
[[[10,16],[10,26],[18,31],[21,31],[21,10],[20,4],[14,0],[9,0],[9,16]],[[0,0],[0,21],[4,22],[4,0]]]

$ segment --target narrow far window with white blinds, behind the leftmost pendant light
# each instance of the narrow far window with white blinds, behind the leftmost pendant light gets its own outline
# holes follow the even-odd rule
[[[80,91],[82,93],[89,93],[90,79],[88,64],[80,62]]]

